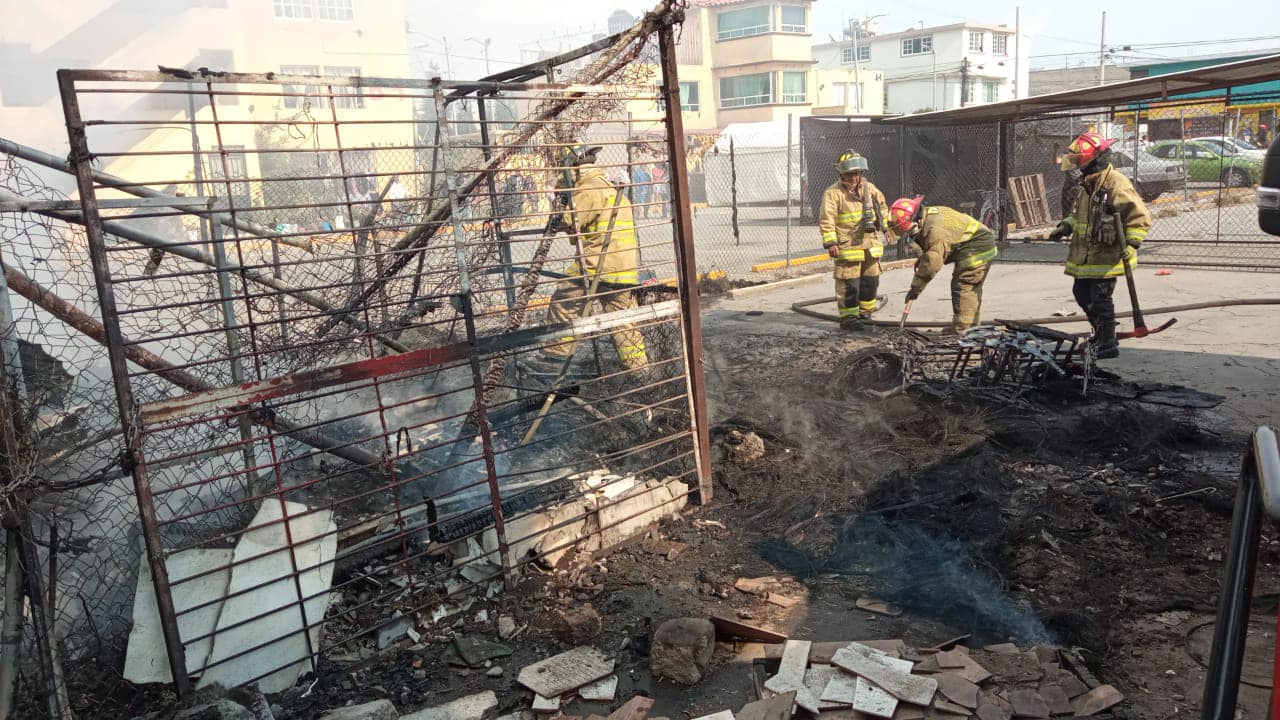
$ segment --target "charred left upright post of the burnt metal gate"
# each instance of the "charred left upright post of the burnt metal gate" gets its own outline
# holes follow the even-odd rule
[[[187,676],[187,653],[178,634],[178,615],[174,611],[173,594],[169,592],[169,569],[164,561],[164,543],[160,539],[160,524],[156,518],[155,500],[151,496],[151,482],[142,454],[142,433],[137,425],[137,406],[133,388],[129,383],[129,368],[124,355],[124,340],[120,333],[120,318],[115,309],[115,291],[111,281],[111,266],[106,255],[106,242],[102,232],[102,218],[97,211],[93,190],[93,169],[90,165],[92,154],[84,135],[84,120],[79,114],[79,99],[76,95],[76,81],[68,70],[58,70],[58,90],[63,101],[63,115],[67,122],[67,136],[72,149],[72,164],[76,170],[76,186],[81,196],[81,214],[88,238],[90,260],[93,266],[93,284],[97,288],[99,307],[102,310],[102,325],[106,332],[106,354],[115,384],[116,410],[120,414],[120,429],[125,438],[125,457],[132,465],[133,492],[138,501],[138,520],[142,525],[142,538],[147,551],[147,564],[151,566],[151,580],[156,593],[156,610],[160,615],[160,629],[164,633],[165,653],[169,670],[173,673],[174,687],[179,697],[191,696],[191,678]]]

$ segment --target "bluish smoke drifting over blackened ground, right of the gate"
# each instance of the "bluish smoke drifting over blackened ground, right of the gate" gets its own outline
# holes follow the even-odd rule
[[[882,600],[957,625],[968,624],[973,632],[1024,644],[1053,642],[1039,619],[979,568],[964,543],[918,525],[858,515],[837,529],[835,547],[824,559],[812,557],[782,539],[762,541],[756,550],[796,574],[865,575]]]

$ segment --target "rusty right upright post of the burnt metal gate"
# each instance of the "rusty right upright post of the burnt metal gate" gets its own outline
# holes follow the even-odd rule
[[[694,459],[698,462],[699,502],[710,502],[712,446],[707,413],[707,378],[703,372],[703,328],[698,300],[698,261],[694,256],[694,222],[689,213],[689,168],[685,165],[685,123],[680,108],[680,78],[676,76],[676,38],[669,24],[658,29],[662,55],[662,92],[667,99],[667,156],[672,192],[672,225],[676,232],[680,314],[685,345],[685,373],[689,378],[689,411],[694,429]]]

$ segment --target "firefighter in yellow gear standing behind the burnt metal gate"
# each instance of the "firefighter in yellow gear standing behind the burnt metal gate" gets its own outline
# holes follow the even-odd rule
[[[639,252],[635,220],[626,192],[609,182],[595,165],[599,146],[566,149],[566,167],[575,168],[572,210],[562,215],[559,227],[572,233],[579,260],[566,270],[570,275],[556,284],[548,315],[553,323],[567,323],[584,316],[588,304],[596,301],[605,313],[636,306],[634,288],[639,284]],[[585,279],[585,282],[584,282]],[[588,295],[593,283],[595,293]],[[618,359],[627,369],[649,364],[644,336],[634,325],[613,331]],[[566,336],[543,347],[543,364],[561,366],[573,355],[577,338]]]

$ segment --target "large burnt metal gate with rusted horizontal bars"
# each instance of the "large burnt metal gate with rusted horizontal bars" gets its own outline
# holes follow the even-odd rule
[[[580,282],[561,149],[613,138],[622,184],[684,158],[671,32],[602,45],[602,85],[59,73],[145,541],[129,664],[168,660],[127,678],[278,692],[709,500],[682,163],[635,211],[646,284],[600,288],[637,302],[547,318]],[[524,360],[566,336],[548,404]]]

